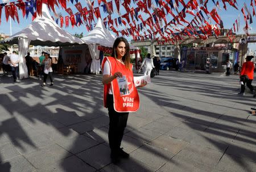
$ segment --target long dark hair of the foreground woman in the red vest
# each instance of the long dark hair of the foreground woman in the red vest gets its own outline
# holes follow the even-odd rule
[[[125,55],[123,55],[123,57],[122,57],[122,61],[125,64],[125,67],[130,69],[130,46],[129,46],[129,43],[126,40],[126,38],[118,37],[115,39],[111,56],[114,58],[117,58],[117,52],[115,51],[115,49],[117,48],[117,46],[120,42],[125,42],[125,48],[126,48]]]

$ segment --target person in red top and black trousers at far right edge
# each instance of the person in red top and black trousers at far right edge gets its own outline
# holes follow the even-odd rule
[[[254,58],[253,55],[248,55],[245,59],[246,62],[243,63],[241,74],[240,74],[240,81],[241,81],[241,92],[238,93],[241,96],[245,96],[245,84],[250,89],[252,93],[255,94],[253,85],[251,82],[253,81],[253,73],[254,73],[254,64],[251,62],[251,59]]]

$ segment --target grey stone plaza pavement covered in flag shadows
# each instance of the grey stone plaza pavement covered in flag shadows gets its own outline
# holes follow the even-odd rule
[[[238,76],[160,71],[139,88],[110,162],[102,76],[55,75],[53,87],[0,76],[0,171],[255,171],[256,116]],[[256,85],[256,83],[254,82]]]

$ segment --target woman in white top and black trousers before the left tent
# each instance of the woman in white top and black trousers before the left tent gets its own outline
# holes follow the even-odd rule
[[[51,80],[50,86],[53,85],[53,80],[52,80],[52,59],[49,58],[48,53],[44,53],[45,59],[43,59],[43,64],[44,64],[44,83],[42,84],[42,87],[46,86],[46,79],[47,76],[49,75],[49,79]]]

